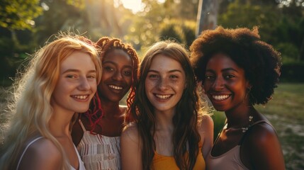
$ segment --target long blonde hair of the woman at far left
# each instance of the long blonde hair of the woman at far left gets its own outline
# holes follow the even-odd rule
[[[21,79],[13,85],[13,100],[9,103],[13,119],[1,149],[0,169],[16,169],[23,144],[35,135],[52,141],[64,160],[61,169],[70,169],[64,149],[50,133],[48,123],[52,115],[50,99],[59,79],[60,64],[75,51],[91,56],[97,72],[97,83],[101,80],[98,51],[84,37],[60,34],[56,40],[38,50]]]

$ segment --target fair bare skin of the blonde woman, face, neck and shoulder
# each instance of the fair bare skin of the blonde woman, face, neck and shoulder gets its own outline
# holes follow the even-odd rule
[[[49,121],[52,135],[60,142],[69,164],[78,169],[79,161],[69,131],[74,113],[84,113],[96,92],[96,69],[91,57],[84,52],[73,52],[62,64],[51,98],[53,114]],[[60,169],[62,156],[55,145],[41,139],[30,145],[19,169]]]

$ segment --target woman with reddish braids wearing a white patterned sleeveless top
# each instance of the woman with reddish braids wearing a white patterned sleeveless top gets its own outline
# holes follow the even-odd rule
[[[139,61],[133,47],[117,38],[101,38],[96,46],[101,50],[101,82],[89,111],[75,123],[72,137],[86,169],[121,169],[120,132],[133,101]],[[128,107],[120,106],[129,90]]]

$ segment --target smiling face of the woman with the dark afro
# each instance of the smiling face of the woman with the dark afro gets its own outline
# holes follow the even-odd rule
[[[223,54],[211,57],[205,77],[204,89],[217,111],[248,106],[246,89],[249,83],[245,79],[244,69],[238,67],[230,57]]]

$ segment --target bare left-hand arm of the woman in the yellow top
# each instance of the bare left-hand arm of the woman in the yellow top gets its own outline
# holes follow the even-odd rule
[[[135,125],[123,130],[120,136],[120,149],[123,170],[142,170],[142,148]]]

